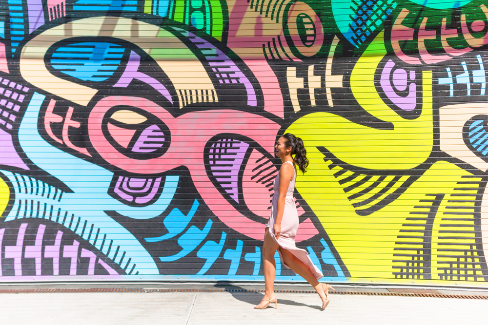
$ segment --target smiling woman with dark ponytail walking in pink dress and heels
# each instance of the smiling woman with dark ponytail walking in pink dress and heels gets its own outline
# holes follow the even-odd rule
[[[264,309],[271,303],[275,303],[275,307],[278,306],[278,300],[273,291],[276,275],[274,255],[278,249],[281,262],[285,267],[300,274],[315,288],[320,299],[322,299],[322,310],[324,310],[330,301],[328,290],[329,288],[334,290],[334,288],[318,281],[324,275],[312,263],[305,249],[299,249],[295,246],[295,235],[299,224],[298,212],[293,198],[297,176],[295,166],[298,166],[300,171],[305,173],[308,159],[306,158],[304,142],[293,134],[284,134],[276,143],[275,153],[281,158],[283,164],[273,184],[271,216],[264,230],[264,298],[254,308]]]

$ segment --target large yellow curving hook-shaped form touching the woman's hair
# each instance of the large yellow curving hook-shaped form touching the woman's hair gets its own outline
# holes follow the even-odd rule
[[[426,161],[432,151],[432,73],[423,72],[422,114],[406,120],[390,109],[376,92],[374,74],[386,50],[383,33],[372,45],[379,56],[362,56],[351,73],[351,90],[362,108],[371,115],[391,122],[393,130],[379,130],[353,123],[327,112],[305,115],[295,121],[287,132],[301,137],[307,152],[325,147],[342,161],[373,170],[407,170]],[[368,52],[368,50],[366,50]]]

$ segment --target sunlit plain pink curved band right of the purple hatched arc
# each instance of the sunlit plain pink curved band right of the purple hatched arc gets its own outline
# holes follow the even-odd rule
[[[273,69],[266,60],[244,60],[244,63],[251,69],[258,79],[264,98],[264,111],[272,113],[280,118],[285,118],[283,95],[280,84]]]

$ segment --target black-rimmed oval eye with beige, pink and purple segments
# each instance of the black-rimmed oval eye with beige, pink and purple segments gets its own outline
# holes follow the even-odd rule
[[[169,148],[168,127],[156,116],[136,111],[129,106],[113,107],[103,118],[103,135],[117,151],[129,158],[160,157]]]

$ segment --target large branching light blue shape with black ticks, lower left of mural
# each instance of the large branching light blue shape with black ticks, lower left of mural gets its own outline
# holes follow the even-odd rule
[[[34,189],[33,193],[22,190],[17,185],[17,181],[12,172],[3,172],[11,182],[13,182],[13,189],[15,192],[14,207],[5,217],[5,221],[12,221],[20,218],[36,217],[36,214],[29,214],[21,212],[16,215],[18,210],[26,211],[25,205],[20,205],[20,202],[33,201],[39,202],[40,206],[47,205],[53,207],[54,211],[61,210],[62,215],[67,212],[67,215],[74,215],[74,220],[77,222],[70,223],[70,218],[67,220],[59,220],[58,222],[66,228],[71,229],[83,239],[89,241],[95,248],[100,249],[108,258],[121,264],[122,267],[128,266],[128,269],[134,267],[133,273],[144,275],[157,275],[159,269],[154,262],[153,257],[147,252],[142,244],[134,235],[122,227],[118,222],[109,217],[105,211],[117,211],[119,214],[137,219],[154,218],[164,210],[166,210],[173,199],[174,193],[178,187],[179,176],[166,176],[164,181],[163,193],[160,198],[150,206],[147,207],[129,207],[122,202],[114,199],[108,194],[108,189],[113,179],[113,172],[98,166],[96,164],[87,162],[72,154],[54,147],[45,141],[38,130],[39,114],[45,96],[34,93],[29,102],[24,117],[19,126],[19,144],[26,157],[32,161],[40,169],[53,175],[61,182],[63,182],[72,193],[63,193],[62,198],[59,196],[53,199],[42,195],[36,195]],[[36,143],[35,146],[32,143]],[[67,168],[59,168],[59,166],[66,166]],[[71,168],[69,168],[71,167]],[[76,175],[73,170],[76,169]],[[97,186],[91,186],[96,184]],[[35,182],[34,187],[41,187],[39,191],[42,192],[42,183]],[[52,192],[54,192],[52,188]],[[97,204],[87,204],[93,202],[93,197],[97,198]],[[40,216],[44,219],[49,219],[56,222],[56,218],[50,218],[49,213],[45,216]],[[78,223],[79,221],[79,223]],[[94,227],[94,233],[100,229],[98,236],[89,237],[89,231],[82,232],[83,227],[77,226],[86,224]],[[98,238],[98,239],[96,239]],[[102,241],[101,238],[105,240]],[[104,242],[104,244],[102,244]],[[111,243],[111,250],[109,245]],[[115,255],[116,250],[117,256]],[[124,258],[122,259],[122,256]],[[130,259],[130,261],[129,261]]]

